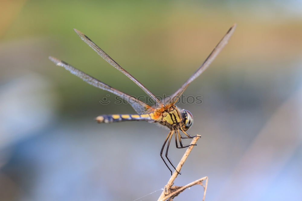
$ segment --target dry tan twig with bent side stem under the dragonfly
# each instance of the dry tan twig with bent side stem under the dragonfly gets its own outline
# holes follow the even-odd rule
[[[196,144],[197,140],[200,138],[201,136],[197,135],[191,142],[191,144]],[[186,188],[189,188],[191,186],[194,186],[196,184],[200,184],[202,185],[202,181],[206,180],[205,182],[205,186],[204,186],[204,197],[206,194],[206,190],[207,190],[207,181],[208,181],[208,177],[203,177],[201,179],[198,179],[196,181],[193,181],[183,187],[176,187],[173,186],[174,180],[176,179],[178,172],[180,172],[180,170],[182,169],[183,164],[185,163],[186,159],[188,158],[188,155],[190,154],[190,152],[192,151],[194,146],[189,146],[188,149],[186,150],[185,154],[182,156],[182,159],[179,161],[176,170],[174,171],[174,173],[172,174],[172,176],[170,177],[168,183],[165,185],[164,190],[162,191],[162,194],[159,196],[157,201],[164,201],[168,198],[170,198],[169,200],[172,200],[174,197],[178,196],[179,193],[181,193],[182,191],[184,191]],[[203,185],[202,185],[203,186]],[[204,200],[203,197],[203,200]]]

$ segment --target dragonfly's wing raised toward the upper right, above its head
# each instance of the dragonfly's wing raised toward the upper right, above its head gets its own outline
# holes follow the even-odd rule
[[[213,49],[213,51],[210,53],[210,55],[207,57],[207,59],[202,63],[202,65],[191,75],[191,77],[185,82],[185,84],[182,85],[181,88],[179,88],[172,96],[169,98],[169,100],[166,100],[166,104],[173,105],[177,102],[178,98],[182,95],[182,93],[185,91],[185,89],[188,87],[188,85],[197,78],[202,72],[207,69],[207,67],[211,64],[211,62],[215,59],[215,57],[220,53],[220,51],[223,49],[223,47],[227,44],[228,40],[232,36],[234,30],[236,28],[236,24],[234,24],[224,35],[224,37],[220,40],[220,42],[216,45],[216,47]]]

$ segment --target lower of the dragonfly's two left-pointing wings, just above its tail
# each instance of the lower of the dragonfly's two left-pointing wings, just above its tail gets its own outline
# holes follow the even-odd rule
[[[62,66],[64,67],[66,70],[68,70],[69,72],[71,72],[73,75],[76,75],[77,77],[81,78],[82,80],[84,80],[85,82],[87,82],[88,84],[109,91],[117,96],[122,97],[125,101],[127,101],[132,107],[133,109],[138,113],[138,114],[144,114],[144,113],[149,113],[152,112],[154,110],[153,107],[147,105],[146,103],[128,95],[125,94],[122,91],[119,91],[109,85],[106,85],[105,83],[93,78],[92,76],[80,71],[79,69],[76,69],[75,67],[69,65],[68,63],[56,59],[52,56],[49,57],[49,59],[54,62],[56,65]]]

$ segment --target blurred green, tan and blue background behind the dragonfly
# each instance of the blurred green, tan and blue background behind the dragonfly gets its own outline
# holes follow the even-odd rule
[[[95,123],[101,114],[134,111],[112,94],[100,104],[108,92],[48,56],[145,95],[76,28],[155,95],[169,95],[234,23],[227,46],[185,91],[203,103],[178,105],[193,113],[188,133],[202,137],[175,185],[208,176],[209,201],[302,200],[301,10],[300,0],[2,0],[0,200],[157,200],[170,177],[159,156],[168,131]],[[184,152],[170,146],[174,164]],[[202,195],[194,186],[175,200]]]

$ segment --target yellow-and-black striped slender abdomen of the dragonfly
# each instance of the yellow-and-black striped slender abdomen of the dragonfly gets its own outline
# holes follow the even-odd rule
[[[98,123],[113,123],[121,121],[150,121],[149,114],[112,114],[95,118]]]

